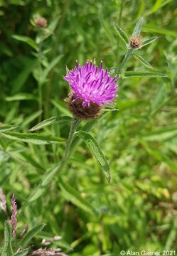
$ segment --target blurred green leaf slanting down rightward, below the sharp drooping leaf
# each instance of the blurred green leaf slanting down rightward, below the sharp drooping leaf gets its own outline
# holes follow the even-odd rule
[[[63,196],[67,201],[71,201],[75,206],[85,210],[87,213],[95,214],[95,209],[92,208],[92,205],[82,198],[80,193],[73,188],[73,186],[70,186],[67,182],[63,181],[62,178],[60,178],[59,184],[61,190],[63,191]]]

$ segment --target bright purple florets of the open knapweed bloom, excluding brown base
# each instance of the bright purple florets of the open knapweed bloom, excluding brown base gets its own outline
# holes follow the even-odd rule
[[[92,65],[92,61],[85,65],[76,66],[64,78],[69,82],[73,91],[73,100],[82,100],[83,107],[90,106],[90,102],[97,105],[107,105],[117,97],[117,77],[112,78],[108,70]]]

